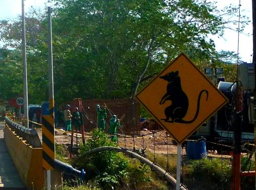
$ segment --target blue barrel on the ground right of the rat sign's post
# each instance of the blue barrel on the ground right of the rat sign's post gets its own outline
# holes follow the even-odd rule
[[[204,140],[188,140],[186,157],[187,159],[202,159],[206,157],[206,144]]]

